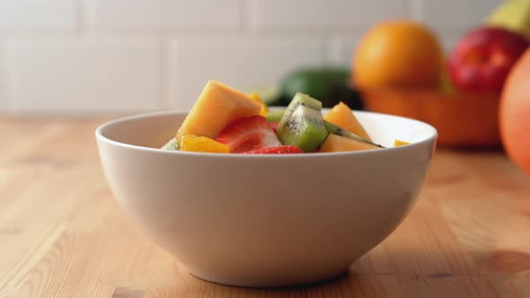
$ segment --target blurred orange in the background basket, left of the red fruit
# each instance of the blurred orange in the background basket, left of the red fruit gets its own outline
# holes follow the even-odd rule
[[[443,69],[436,36],[418,22],[381,22],[361,39],[353,57],[360,88],[437,88]]]

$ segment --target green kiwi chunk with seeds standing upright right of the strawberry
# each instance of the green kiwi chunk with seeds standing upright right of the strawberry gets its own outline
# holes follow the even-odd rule
[[[283,145],[297,145],[306,153],[314,152],[328,136],[321,110],[320,101],[296,93],[279,121],[279,141]]]

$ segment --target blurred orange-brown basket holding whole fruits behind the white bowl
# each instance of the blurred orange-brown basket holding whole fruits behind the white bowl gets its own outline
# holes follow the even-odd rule
[[[426,90],[362,90],[365,109],[416,118],[437,128],[446,147],[499,147],[499,97]]]

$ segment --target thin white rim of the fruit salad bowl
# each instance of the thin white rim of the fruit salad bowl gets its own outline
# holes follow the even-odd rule
[[[280,107],[271,107],[272,109],[278,109]],[[330,110],[330,109],[322,109]],[[144,151],[144,152],[150,152],[150,153],[160,153],[160,154],[175,154],[175,155],[189,155],[189,156],[204,156],[204,157],[216,157],[216,158],[322,158],[322,157],[330,157],[330,156],[344,156],[344,155],[369,155],[369,154],[379,154],[379,153],[387,153],[387,152],[399,152],[402,150],[407,150],[411,147],[416,147],[420,145],[427,145],[430,143],[435,143],[437,140],[437,129],[436,127],[431,126],[427,122],[423,122],[414,118],[407,118],[402,116],[396,116],[396,115],[390,115],[385,113],[379,113],[379,112],[373,112],[373,111],[366,111],[366,110],[354,110],[356,114],[368,114],[368,115],[376,115],[376,116],[383,116],[383,117],[389,117],[389,118],[400,118],[405,119],[408,121],[415,122],[417,124],[423,125],[430,130],[430,136],[425,138],[424,140],[421,140],[419,142],[414,142],[409,145],[402,145],[397,147],[384,147],[381,149],[372,149],[372,150],[363,150],[363,151],[348,151],[348,152],[335,152],[335,153],[303,153],[303,154],[244,154],[244,153],[197,153],[197,152],[183,152],[183,151],[172,151],[172,150],[163,150],[160,148],[153,148],[153,147],[145,147],[140,145],[131,145],[126,143],[121,143],[119,141],[115,141],[110,139],[107,136],[103,136],[103,131],[107,127],[111,127],[113,125],[127,122],[130,120],[134,120],[137,118],[150,118],[150,117],[156,117],[156,116],[166,116],[166,115],[178,115],[178,114],[187,114],[190,110],[160,110],[160,111],[152,111],[152,112],[146,112],[146,113],[140,113],[135,114],[131,116],[126,116],[122,118],[116,118],[112,119],[110,121],[102,123],[100,126],[98,126],[95,129],[95,137],[96,141],[101,141],[110,145],[122,147],[122,148],[128,148],[132,150],[137,151]]]

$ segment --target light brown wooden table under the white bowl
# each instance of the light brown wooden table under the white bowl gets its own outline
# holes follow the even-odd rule
[[[0,297],[530,297],[530,179],[503,153],[439,150],[411,215],[348,274],[245,289],[188,275],[128,221],[103,120],[0,117]]]

